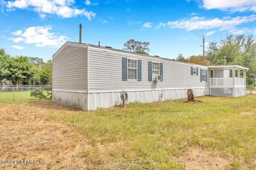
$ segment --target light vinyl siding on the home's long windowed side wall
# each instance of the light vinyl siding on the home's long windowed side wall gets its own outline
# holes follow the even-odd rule
[[[122,57],[141,60],[141,81],[122,81]],[[163,63],[163,81],[148,81],[149,61]],[[209,81],[200,82],[199,76],[190,76],[190,67],[189,63],[89,46],[89,92],[209,87]]]

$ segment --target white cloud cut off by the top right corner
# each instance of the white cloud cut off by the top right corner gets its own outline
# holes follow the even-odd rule
[[[231,12],[256,12],[255,0],[203,0],[203,7],[207,10],[229,10]]]

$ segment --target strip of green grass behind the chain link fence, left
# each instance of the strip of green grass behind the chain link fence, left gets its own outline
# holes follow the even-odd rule
[[[30,101],[47,101],[46,99],[38,99],[30,96],[29,91],[14,91],[14,102],[30,102]],[[0,103],[12,103],[13,102],[13,92],[0,92]]]

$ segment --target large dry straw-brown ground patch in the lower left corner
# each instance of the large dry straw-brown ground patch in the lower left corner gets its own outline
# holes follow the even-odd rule
[[[37,165],[2,165],[3,169],[88,169],[77,155],[90,145],[68,126],[49,121],[55,112],[70,108],[52,103],[1,105],[0,160],[37,161]],[[46,164],[38,165],[39,160]]]

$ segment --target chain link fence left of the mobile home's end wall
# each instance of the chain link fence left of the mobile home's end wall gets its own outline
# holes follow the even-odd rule
[[[51,85],[8,85],[0,86],[0,103],[35,101],[38,98],[30,96],[30,92],[40,88],[44,92],[52,91]]]

